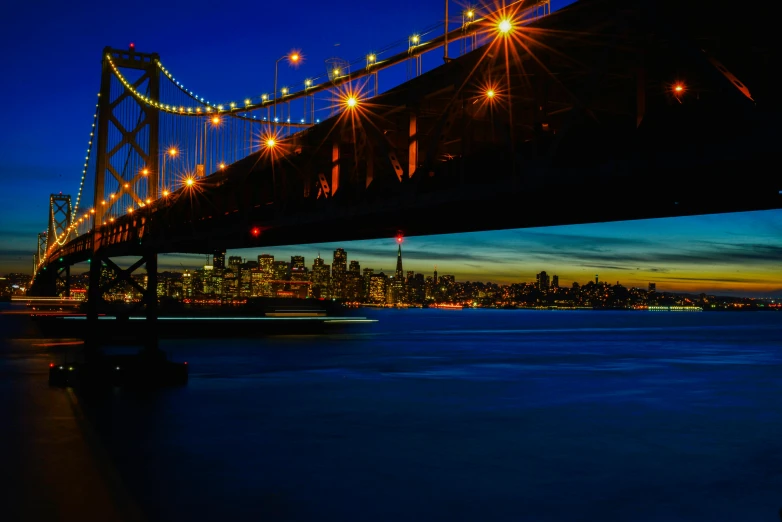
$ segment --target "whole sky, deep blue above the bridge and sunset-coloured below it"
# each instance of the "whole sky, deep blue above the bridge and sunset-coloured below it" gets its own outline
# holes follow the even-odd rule
[[[567,3],[552,2],[552,16]],[[453,2],[452,19],[461,10]],[[244,5],[46,0],[4,7],[0,274],[31,272],[49,194],[75,199],[105,46],[134,42],[138,51],[159,53],[188,88],[214,100],[241,100],[272,90],[274,62],[291,49],[300,49],[305,63],[298,69],[281,65],[280,85],[322,74],[329,57],[353,60],[442,18],[443,2],[430,0]],[[429,64],[442,56],[430,54],[435,56]],[[393,74],[381,73],[381,82],[391,86]],[[91,206],[91,199],[90,187],[83,202]],[[285,260],[300,254],[311,265],[318,252],[330,263],[339,246],[362,268],[394,269],[394,238],[228,254],[254,259],[265,252]],[[627,286],[654,281],[658,291],[782,295],[782,211],[414,237],[405,240],[403,252],[406,270],[430,274],[437,265],[440,274],[460,281],[526,282],[545,270],[564,285],[599,274]],[[195,255],[160,258],[161,269],[203,263]]]

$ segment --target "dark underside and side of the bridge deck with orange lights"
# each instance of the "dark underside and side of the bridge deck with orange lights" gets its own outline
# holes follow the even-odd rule
[[[754,16],[581,0],[49,260],[782,208]]]

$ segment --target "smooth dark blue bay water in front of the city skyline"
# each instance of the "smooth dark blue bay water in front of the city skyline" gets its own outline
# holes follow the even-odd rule
[[[777,521],[782,313],[361,310],[83,401],[153,521]]]

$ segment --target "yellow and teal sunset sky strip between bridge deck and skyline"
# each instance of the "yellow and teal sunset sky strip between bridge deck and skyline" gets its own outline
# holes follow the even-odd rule
[[[722,216],[405,237],[401,246],[405,271],[430,275],[437,266],[440,274],[452,274],[460,281],[523,283],[546,271],[558,275],[561,286],[599,275],[601,281],[627,287],[646,288],[654,282],[660,292],[779,297],[782,223],[768,214],[733,214],[729,228],[711,235],[695,231],[703,230],[704,221],[716,228]],[[749,228],[752,235],[741,235]],[[741,241],[726,243],[723,234]],[[487,245],[494,235],[502,237],[502,243]],[[226,258],[254,260],[270,254],[288,261],[303,256],[309,269],[318,255],[330,265],[338,248],[347,252],[348,263],[359,261],[362,269],[395,272],[396,238],[229,250]],[[194,270],[204,264],[203,254],[159,256],[160,271]],[[75,272],[86,269],[86,265],[74,267]]]

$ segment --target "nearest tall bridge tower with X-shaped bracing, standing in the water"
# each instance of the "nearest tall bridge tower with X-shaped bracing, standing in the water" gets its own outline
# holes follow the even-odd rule
[[[106,252],[104,234],[110,232],[102,226],[113,221],[114,215],[125,214],[125,209],[113,209],[123,201],[143,207],[146,200],[158,198],[160,113],[151,104],[139,101],[131,89],[144,98],[160,99],[158,55],[137,52],[133,44],[126,50],[106,47],[98,102],[95,228],[87,317],[90,322],[97,322],[99,309],[105,305],[103,294],[118,285],[128,285],[143,295],[140,305],[145,308],[149,327],[145,346],[156,350],[157,253],[141,251],[140,259],[122,268]],[[147,272],[146,288],[131,277],[142,266]],[[123,317],[126,313],[122,312]],[[99,343],[100,339],[93,336],[85,340],[85,348],[88,353],[94,352]]]

